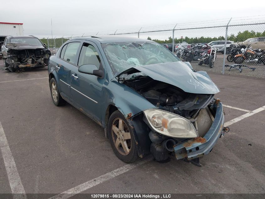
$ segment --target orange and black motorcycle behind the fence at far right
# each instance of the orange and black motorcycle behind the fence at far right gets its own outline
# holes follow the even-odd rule
[[[241,54],[237,54],[234,56],[234,62],[236,64],[242,64],[243,62],[252,63],[252,64],[264,64],[265,65],[265,51],[256,52],[252,47],[249,47],[250,44],[247,45],[245,49],[241,49]],[[257,49],[256,49],[257,50]]]

